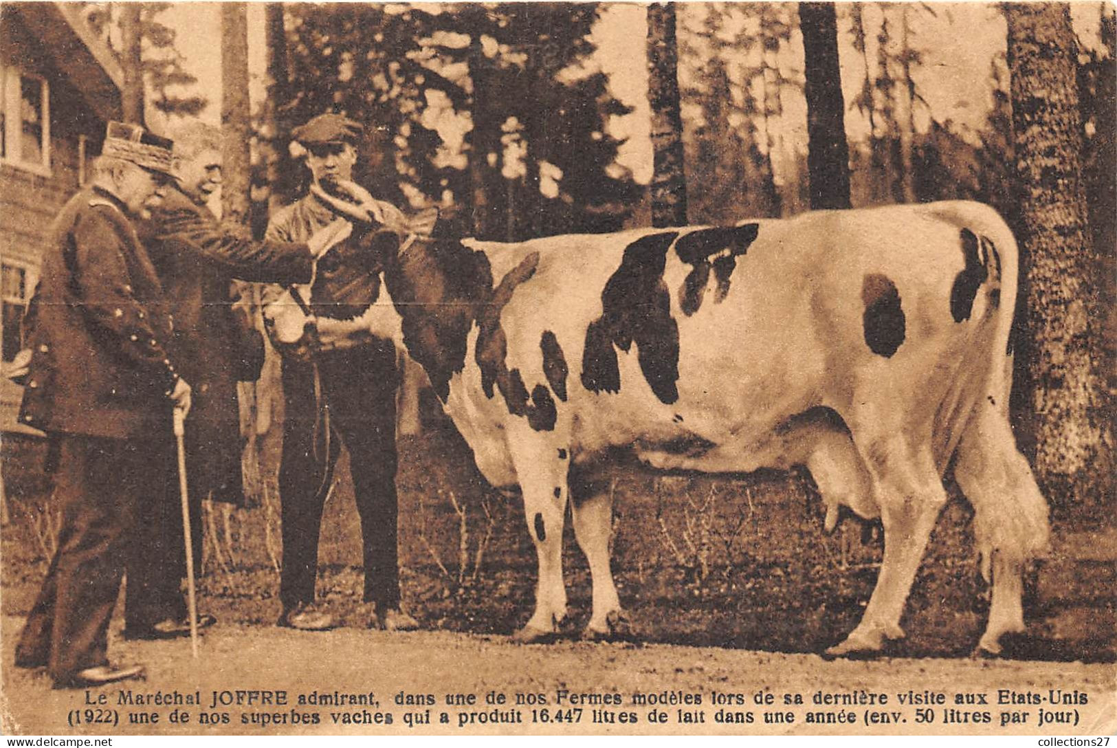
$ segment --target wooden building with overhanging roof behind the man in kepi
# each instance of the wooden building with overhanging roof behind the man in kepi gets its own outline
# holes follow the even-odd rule
[[[121,117],[123,73],[82,16],[80,3],[0,6],[0,269],[3,363],[23,344],[21,318],[38,278],[47,230],[88,179],[105,124]],[[0,430],[16,423],[22,392],[0,377]]]

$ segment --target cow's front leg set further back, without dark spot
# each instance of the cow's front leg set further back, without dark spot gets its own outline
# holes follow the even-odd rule
[[[576,486],[580,487],[579,490],[575,490]],[[583,632],[585,639],[611,639],[629,633],[628,615],[621,608],[610,566],[612,492],[601,488],[598,485],[586,486],[571,480],[574,534],[590,564],[590,578],[593,582],[593,612]]]

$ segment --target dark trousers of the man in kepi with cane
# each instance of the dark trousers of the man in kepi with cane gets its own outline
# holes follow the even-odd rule
[[[131,547],[145,531],[139,509],[160,495],[165,462],[152,441],[64,434],[55,495],[58,550],[16,648],[56,681],[107,664],[108,621]]]

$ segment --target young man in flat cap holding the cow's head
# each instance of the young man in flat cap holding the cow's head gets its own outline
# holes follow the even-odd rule
[[[359,123],[336,114],[314,117],[294,133],[305,153],[313,186],[311,194],[278,211],[268,223],[269,239],[297,241],[333,220],[330,203],[319,196],[335,182],[352,179]],[[402,221],[402,213],[378,202],[380,218]],[[373,284],[379,268],[370,268]],[[328,272],[319,263],[319,275]],[[378,287],[372,288],[375,300]],[[295,293],[305,294],[296,290]],[[283,460],[279,500],[283,514],[283,570],[279,625],[305,631],[328,629],[333,616],[314,607],[322,510],[330,489],[332,466],[340,449],[338,437],[350,453],[350,471],[361,518],[364,559],[364,601],[371,603],[369,625],[390,631],[418,626],[400,606],[397,550],[395,493],[395,390],[399,383],[395,347],[391,339],[373,335],[367,319],[345,317],[333,299],[321,297],[321,287],[309,301],[317,315],[317,339],[313,351],[285,345],[275,320],[288,315],[294,300],[280,288],[265,298],[269,332],[284,353]],[[351,310],[351,309],[350,309]],[[297,325],[302,329],[302,323]],[[319,402],[315,377],[321,382],[328,428],[316,428]]]

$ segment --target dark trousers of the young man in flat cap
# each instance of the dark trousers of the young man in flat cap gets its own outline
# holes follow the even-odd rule
[[[400,603],[397,548],[395,390],[399,373],[391,342],[378,342],[317,357],[314,364],[285,359],[283,461],[279,502],[283,516],[284,610],[314,602],[318,535],[328,486],[328,464],[340,449],[350,453],[350,473],[364,560],[364,601]],[[326,403],[328,429],[318,422],[317,401]],[[328,433],[327,433],[328,432]]]

